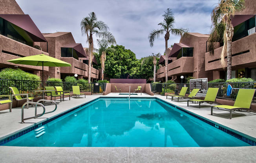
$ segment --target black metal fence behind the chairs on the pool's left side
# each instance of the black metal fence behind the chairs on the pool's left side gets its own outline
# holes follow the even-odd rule
[[[106,90],[106,83],[71,83],[44,81],[45,87],[60,86],[64,91],[72,91],[73,85],[78,85],[80,91],[91,92],[92,94],[102,94],[102,92]],[[43,83],[42,81],[0,79],[0,94],[12,94],[9,87],[16,87],[20,93],[30,93],[30,90],[43,90]],[[34,93],[34,96],[39,95],[40,92]]]

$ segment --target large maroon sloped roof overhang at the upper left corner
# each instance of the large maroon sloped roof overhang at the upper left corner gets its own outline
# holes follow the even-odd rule
[[[0,17],[24,29],[34,42],[47,42],[28,14],[0,14]]]

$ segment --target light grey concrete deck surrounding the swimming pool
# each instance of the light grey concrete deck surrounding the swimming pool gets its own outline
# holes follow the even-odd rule
[[[26,128],[39,124],[62,112],[66,112],[77,105],[94,100],[102,95],[91,95],[86,98],[65,98],[60,103],[56,100],[58,108],[55,112],[45,114],[37,119],[21,121],[21,107],[0,111],[0,139],[11,136]],[[110,93],[102,97],[120,97],[119,93]],[[187,100],[171,101],[166,96],[150,96],[143,93],[142,96],[133,97],[157,97],[183,109],[204,117],[208,121],[214,121],[220,126],[239,133],[249,139],[256,141],[256,113],[243,113],[246,116],[232,114],[229,117],[214,114],[210,115],[210,105],[203,104],[198,107],[187,107]],[[190,104],[196,105],[196,104]],[[196,105],[198,106],[198,104]],[[42,108],[40,108],[42,111]],[[38,108],[38,113],[40,113]],[[46,110],[53,110],[54,105],[47,105]],[[24,117],[34,116],[35,109],[24,109]],[[214,110],[216,113],[229,115],[229,112]],[[256,147],[190,147],[190,148],[155,148],[155,147],[0,147],[0,162],[256,162],[254,156]]]

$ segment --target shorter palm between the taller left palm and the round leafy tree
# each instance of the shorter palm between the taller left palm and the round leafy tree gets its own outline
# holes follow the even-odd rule
[[[105,61],[106,61],[106,49],[111,45],[116,45],[117,42],[115,41],[114,36],[110,37],[109,40],[99,40],[97,39],[98,47],[99,47],[99,54],[101,54],[101,80],[104,79],[104,70],[105,70]]]

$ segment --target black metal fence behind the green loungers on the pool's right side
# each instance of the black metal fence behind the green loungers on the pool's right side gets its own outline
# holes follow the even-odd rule
[[[233,87],[231,96],[227,96],[227,87],[229,84]],[[189,87],[189,84],[151,83],[150,87],[151,91],[154,92],[154,94],[164,95],[165,93],[179,92],[182,87]],[[217,98],[235,100],[239,89],[256,89],[256,82],[208,83],[208,88],[219,88]],[[187,90],[187,93],[189,94],[189,89]],[[253,99],[253,101],[256,102],[255,97],[256,94],[254,94]]]

